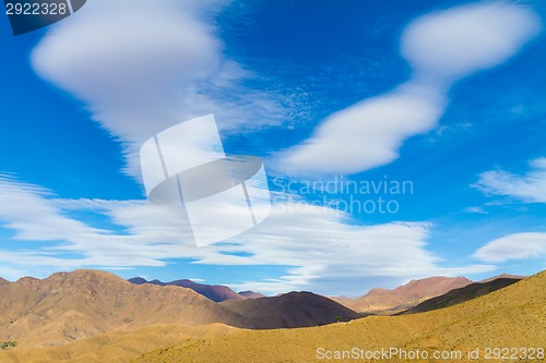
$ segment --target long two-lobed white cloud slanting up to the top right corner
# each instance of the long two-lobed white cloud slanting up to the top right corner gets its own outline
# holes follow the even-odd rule
[[[328,117],[309,140],[278,156],[277,168],[296,174],[355,173],[393,161],[404,141],[437,126],[454,81],[505,62],[539,28],[532,11],[505,2],[417,19],[401,44],[413,78]]]

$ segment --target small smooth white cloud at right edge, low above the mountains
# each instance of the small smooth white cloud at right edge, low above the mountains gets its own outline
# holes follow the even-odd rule
[[[514,233],[487,243],[474,254],[487,263],[546,256],[546,233]]]

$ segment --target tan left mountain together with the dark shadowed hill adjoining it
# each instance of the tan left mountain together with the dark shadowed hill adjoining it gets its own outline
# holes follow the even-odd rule
[[[4,341],[32,348],[150,324],[222,323],[270,329],[330,324],[339,315],[360,317],[328,298],[306,292],[259,299],[239,295],[228,301],[242,304],[218,304],[189,288],[135,285],[97,270],[57,273],[43,280],[24,277],[0,286],[0,335]]]

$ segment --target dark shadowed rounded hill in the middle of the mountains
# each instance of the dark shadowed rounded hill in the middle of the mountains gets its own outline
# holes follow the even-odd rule
[[[280,297],[227,300],[222,306],[244,315],[262,329],[325,325],[358,317],[358,314],[333,300],[311,292],[289,292]]]

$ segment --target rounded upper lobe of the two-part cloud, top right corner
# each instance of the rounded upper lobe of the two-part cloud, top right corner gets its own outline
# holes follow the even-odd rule
[[[538,17],[522,5],[464,5],[414,21],[402,36],[401,51],[419,73],[461,77],[505,62],[539,27]]]

